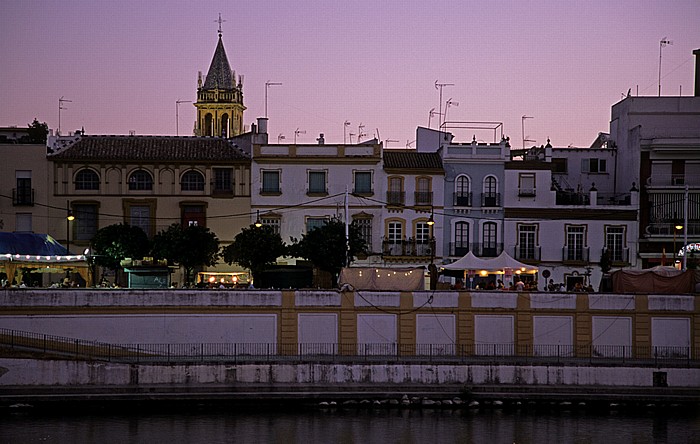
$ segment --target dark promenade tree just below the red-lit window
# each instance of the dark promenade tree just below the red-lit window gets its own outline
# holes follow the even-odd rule
[[[195,267],[216,265],[219,259],[219,238],[209,228],[199,225],[182,227],[172,224],[153,238],[152,254],[185,269],[185,283],[194,278]]]

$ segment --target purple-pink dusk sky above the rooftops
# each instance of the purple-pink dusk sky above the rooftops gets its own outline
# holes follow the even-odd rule
[[[665,96],[693,95],[700,48],[700,0],[3,0],[0,11],[0,126],[55,130],[63,97],[64,134],[191,135],[195,108],[176,101],[196,100],[219,14],[244,124],[265,115],[267,90],[271,143],[362,132],[414,147],[451,99],[448,122],[500,122],[514,148],[523,136],[587,147],[628,90],[658,95],[663,38]],[[442,101],[436,83],[451,84]]]

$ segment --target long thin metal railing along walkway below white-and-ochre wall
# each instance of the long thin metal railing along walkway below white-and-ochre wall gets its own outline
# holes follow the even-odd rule
[[[185,343],[111,344],[25,331],[0,329],[0,344],[86,360],[128,363],[177,362],[398,362],[465,361],[615,363],[646,366],[700,366],[700,346],[397,344],[397,343]]]

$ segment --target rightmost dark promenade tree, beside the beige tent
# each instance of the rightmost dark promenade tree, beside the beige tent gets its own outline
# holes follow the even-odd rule
[[[290,253],[308,259],[314,267],[330,272],[334,279],[342,267],[349,265],[353,257],[365,253],[367,249],[359,229],[350,225],[348,254],[345,244],[345,223],[337,218],[330,219],[323,226],[302,235],[301,240],[293,240]]]

